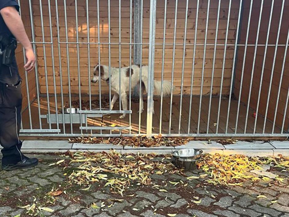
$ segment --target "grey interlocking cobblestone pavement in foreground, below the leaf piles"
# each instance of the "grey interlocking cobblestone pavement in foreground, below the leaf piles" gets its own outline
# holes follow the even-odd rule
[[[161,187],[132,185],[122,197],[100,183],[94,183],[89,189],[68,186],[63,167],[49,166],[65,156],[36,157],[42,159],[36,168],[0,171],[1,217],[29,216],[27,205],[31,213],[42,207],[36,216],[51,217],[289,217],[288,185],[269,186],[262,181],[215,187],[198,179],[188,181],[176,174],[152,174],[153,184]],[[67,168],[73,170],[73,165]],[[169,184],[169,181],[179,184]],[[65,192],[55,197],[47,195],[52,189]]]

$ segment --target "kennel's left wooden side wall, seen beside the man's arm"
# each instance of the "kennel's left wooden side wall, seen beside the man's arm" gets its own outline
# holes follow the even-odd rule
[[[30,15],[29,15],[29,2],[21,1],[21,13],[22,13],[22,21],[26,29],[26,33],[31,40],[31,24],[30,24]],[[19,74],[22,78],[22,95],[23,95],[23,103],[22,110],[24,110],[28,106],[28,94],[27,94],[27,86],[26,86],[26,77],[24,70],[24,56],[22,45],[18,44],[18,47],[15,51],[16,61],[18,65]],[[32,71],[27,74],[27,82],[28,82],[28,90],[29,90],[29,100],[32,102],[36,98],[36,81],[35,81],[35,72]]]

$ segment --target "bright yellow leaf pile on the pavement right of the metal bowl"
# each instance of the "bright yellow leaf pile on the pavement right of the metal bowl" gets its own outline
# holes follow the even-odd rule
[[[274,158],[258,158],[245,155],[206,154],[197,163],[197,166],[208,174],[206,181],[214,185],[242,185],[246,180],[256,181],[261,179],[282,183],[284,179],[278,176],[271,180],[266,176],[259,178],[250,173],[252,170],[262,171],[261,167],[266,164],[289,171],[289,158],[282,155]]]

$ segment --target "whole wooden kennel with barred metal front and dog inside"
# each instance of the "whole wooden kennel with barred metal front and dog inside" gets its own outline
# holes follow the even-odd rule
[[[286,0],[18,2],[22,136],[289,136]]]

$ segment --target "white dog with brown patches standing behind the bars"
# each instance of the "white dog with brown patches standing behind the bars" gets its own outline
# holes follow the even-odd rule
[[[129,76],[131,74],[131,88],[136,85],[141,85],[141,112],[144,110],[144,101],[143,101],[143,93],[144,89],[147,92],[148,90],[148,66],[141,66],[141,79],[140,79],[140,65],[132,65],[131,70],[129,67],[121,67],[121,102],[122,109],[127,110],[127,92],[129,92]],[[99,73],[100,68],[100,73]],[[113,109],[114,103],[119,98],[119,68],[111,67],[110,70],[110,78],[109,78],[109,66],[97,64],[93,69],[93,78],[91,82],[96,83],[99,81],[99,74],[101,76],[101,80],[107,82],[107,84],[111,85],[111,90],[113,90],[114,95],[111,101],[111,110]],[[154,90],[157,95],[161,94],[161,82],[154,80]],[[171,93],[171,82],[163,81],[163,95],[168,95]],[[125,114],[121,115],[120,118],[124,118]]]

